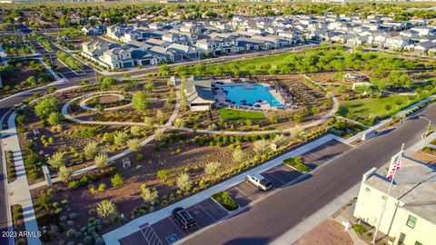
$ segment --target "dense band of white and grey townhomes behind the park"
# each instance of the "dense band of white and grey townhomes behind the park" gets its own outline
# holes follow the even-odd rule
[[[83,44],[83,55],[106,68],[180,63],[202,56],[243,54],[290,47],[308,41],[367,45],[436,53],[436,28],[426,20],[395,21],[387,15],[234,16],[229,21],[171,23],[140,21],[130,25],[86,27],[105,38]]]

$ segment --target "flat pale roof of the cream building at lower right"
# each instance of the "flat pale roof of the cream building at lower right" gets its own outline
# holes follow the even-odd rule
[[[364,183],[384,193],[390,185],[390,181],[380,174],[373,174]],[[400,201],[402,208],[436,224],[435,167],[402,157],[390,196]]]

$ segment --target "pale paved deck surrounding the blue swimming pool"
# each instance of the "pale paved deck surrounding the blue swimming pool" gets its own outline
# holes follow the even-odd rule
[[[234,83],[231,80],[220,80],[217,82],[222,82],[223,84],[220,83],[214,83],[216,87],[220,88],[220,90],[216,91],[216,95],[215,95],[215,99],[218,100],[218,103],[224,103],[227,105],[230,105],[231,107],[234,107],[236,109],[245,109],[245,110],[251,110],[251,111],[278,111],[278,110],[282,110],[279,109],[275,106],[270,106],[270,104],[268,102],[263,102],[263,103],[257,103],[260,104],[261,107],[260,108],[254,108],[254,107],[249,107],[249,106],[243,106],[243,105],[235,105],[235,104],[229,104],[226,103],[225,100],[227,99],[227,97],[223,94],[223,87],[230,87],[230,86],[243,86],[244,89],[253,89],[253,87],[255,85],[263,85],[263,87],[265,87],[269,93],[272,94],[272,96],[274,96],[274,98],[282,103],[283,105],[287,105],[282,97],[282,95],[280,93],[277,93],[268,83],[248,83],[248,82],[239,82],[239,83]],[[287,109],[289,110],[289,109]]]

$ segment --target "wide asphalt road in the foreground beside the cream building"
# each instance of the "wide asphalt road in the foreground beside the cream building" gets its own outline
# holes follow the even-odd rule
[[[436,122],[436,104],[420,114]],[[372,167],[381,167],[398,152],[421,140],[427,122],[408,120],[400,128],[345,152],[329,164],[314,171],[312,178],[272,193],[248,211],[213,226],[185,240],[183,244],[266,244],[279,238],[315,211],[333,201],[362,180]]]

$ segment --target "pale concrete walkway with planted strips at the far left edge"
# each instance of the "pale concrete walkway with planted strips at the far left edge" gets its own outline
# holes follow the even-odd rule
[[[16,113],[13,113],[8,121],[8,129],[2,131],[2,143],[4,151],[14,152],[14,165],[16,171],[16,180],[7,185],[7,194],[9,205],[19,204],[23,208],[23,216],[25,220],[25,230],[38,232],[38,224],[36,223],[34,203],[30,195],[27,175],[25,173],[25,162],[21,153],[20,144],[18,142],[17,132],[15,128]],[[7,137],[5,137],[7,135]],[[39,245],[41,241],[36,236],[28,236],[27,243],[29,245]]]

